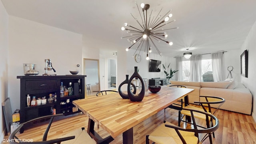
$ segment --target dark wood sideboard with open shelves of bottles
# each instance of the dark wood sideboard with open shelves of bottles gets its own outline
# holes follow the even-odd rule
[[[20,79],[20,122],[27,122],[40,116],[52,114],[52,109],[56,114],[63,113],[65,116],[81,112],[72,104],[73,100],[83,99],[85,95],[86,75],[66,75],[66,76],[17,76]],[[80,85],[78,81],[80,80]],[[72,82],[74,94],[71,96],[60,97],[60,85],[68,88]],[[49,94],[57,95],[56,102],[40,104],[37,106],[27,106],[27,95],[37,98],[49,98]],[[67,103],[66,100],[70,99]],[[77,110],[77,111],[76,111]]]

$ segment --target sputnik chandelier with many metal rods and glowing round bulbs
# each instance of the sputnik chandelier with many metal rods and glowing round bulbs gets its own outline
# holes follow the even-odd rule
[[[126,26],[130,29],[125,28],[125,27],[121,28],[121,30],[126,30],[127,33],[130,33],[130,36],[121,37],[121,39],[128,38],[127,39],[128,42],[132,43],[132,45],[129,48],[126,48],[126,51],[128,51],[135,44],[138,44],[138,47],[136,48],[136,51],[134,52],[132,57],[134,57],[134,55],[136,54],[137,51],[139,51],[138,54],[140,54],[140,51],[144,49],[144,54],[147,54],[146,60],[149,60],[150,52],[152,52],[152,46],[154,46],[156,48],[158,54],[160,56],[162,56],[162,53],[157,48],[155,42],[164,41],[164,42],[168,43],[170,46],[172,46],[172,44],[173,44],[172,42],[168,42],[168,41],[164,40],[168,37],[168,35],[166,32],[163,32],[163,31],[179,28],[179,27],[167,28],[167,29],[162,28],[162,26],[165,26],[171,22],[175,22],[175,20],[168,22],[169,18],[172,17],[172,14],[169,14],[171,9],[164,16],[161,16],[160,15],[160,12],[162,11],[162,8],[161,8],[156,17],[154,17],[154,16],[151,17],[152,10],[148,16],[148,9],[149,9],[150,5],[142,3],[140,5],[142,8],[142,14],[143,14],[143,17],[142,17],[142,14],[140,12],[138,4],[136,3],[136,5],[137,5],[138,11],[140,13],[140,18],[142,21],[141,24],[137,18],[135,18],[132,14],[131,15],[136,20],[136,22],[139,24],[139,28],[130,26],[127,23],[124,23],[124,26]],[[146,14],[145,14],[145,11],[146,11]]]

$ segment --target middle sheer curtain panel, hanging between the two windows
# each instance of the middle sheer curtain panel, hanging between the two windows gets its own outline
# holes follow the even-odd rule
[[[190,81],[201,82],[202,81],[202,55],[192,55],[190,57]]]

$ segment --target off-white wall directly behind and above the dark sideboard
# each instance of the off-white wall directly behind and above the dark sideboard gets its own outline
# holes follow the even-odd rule
[[[56,73],[66,75],[69,70],[82,66],[82,35],[30,20],[9,17],[9,97],[12,109],[20,108],[20,80],[24,75],[23,63],[37,64],[36,70],[44,74],[44,59],[50,58]],[[81,74],[79,72],[79,74]]]

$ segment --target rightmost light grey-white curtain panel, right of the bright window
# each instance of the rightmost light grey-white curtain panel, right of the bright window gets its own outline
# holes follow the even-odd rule
[[[224,54],[212,53],[212,75],[214,82],[223,81],[224,78]]]

